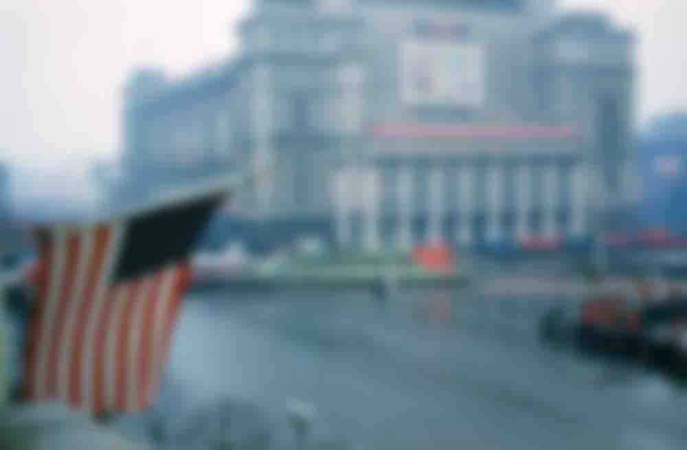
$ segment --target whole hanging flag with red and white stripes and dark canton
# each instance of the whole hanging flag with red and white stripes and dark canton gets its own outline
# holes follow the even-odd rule
[[[150,406],[190,280],[189,253],[224,193],[36,229],[27,401],[63,401],[94,415]]]

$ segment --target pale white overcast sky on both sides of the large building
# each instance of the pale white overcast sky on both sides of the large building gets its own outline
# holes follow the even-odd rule
[[[132,67],[172,76],[227,56],[247,0],[2,0],[0,151],[69,184],[118,148],[120,89]],[[684,0],[563,0],[613,12],[640,33],[640,117],[687,106]],[[58,173],[71,171],[74,177]],[[46,179],[47,181],[47,179]],[[52,183],[52,182],[51,182]],[[78,186],[76,187],[78,188]]]

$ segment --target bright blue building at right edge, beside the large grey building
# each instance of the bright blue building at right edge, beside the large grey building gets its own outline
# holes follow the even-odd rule
[[[640,227],[687,234],[687,113],[655,120],[640,137],[638,164]]]

